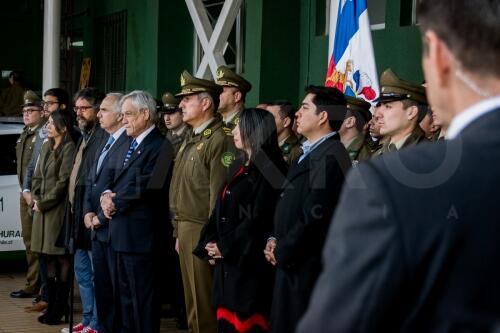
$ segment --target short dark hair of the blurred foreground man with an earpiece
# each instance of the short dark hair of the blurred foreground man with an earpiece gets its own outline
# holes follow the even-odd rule
[[[466,69],[500,76],[500,1],[420,0],[418,15]]]

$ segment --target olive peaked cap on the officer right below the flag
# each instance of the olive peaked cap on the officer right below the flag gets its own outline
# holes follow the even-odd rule
[[[380,97],[377,102],[393,102],[411,99],[421,104],[427,104],[425,88],[420,84],[400,79],[392,69],[386,69],[380,76]]]

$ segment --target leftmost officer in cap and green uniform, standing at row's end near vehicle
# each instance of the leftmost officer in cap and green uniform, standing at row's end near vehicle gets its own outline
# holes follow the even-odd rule
[[[44,122],[42,100],[33,91],[27,90],[24,93],[23,107],[23,122],[24,129],[21,136],[17,140],[16,159],[17,159],[17,176],[19,185],[22,187],[26,167],[33,153],[33,146],[38,134],[38,130]],[[24,200],[22,193],[19,196],[21,227],[23,242],[26,246],[26,261],[28,270],[26,272],[26,285],[23,289],[14,291],[11,297],[31,297],[38,293],[38,258],[35,253],[31,252],[31,228],[33,225],[33,216],[31,207]]]

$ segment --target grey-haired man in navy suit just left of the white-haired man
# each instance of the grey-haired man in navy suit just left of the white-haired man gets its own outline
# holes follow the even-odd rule
[[[99,198],[104,192],[108,174],[112,170],[113,160],[123,161],[130,145],[130,137],[123,127],[119,93],[109,93],[103,99],[97,117],[101,128],[108,133],[94,156],[94,165],[89,170],[89,188],[85,195],[85,226],[92,230],[92,264],[94,268],[95,300],[99,332],[119,332],[119,304],[117,304],[117,286],[114,285],[115,257],[109,244],[109,220],[99,220]],[[101,214],[101,218],[102,218]],[[116,326],[114,326],[116,325]]]

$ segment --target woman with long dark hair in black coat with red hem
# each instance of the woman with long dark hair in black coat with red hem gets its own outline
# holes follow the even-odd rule
[[[267,332],[274,268],[262,253],[286,176],[274,117],[245,109],[233,130],[241,158],[194,253],[215,264],[219,332]]]

